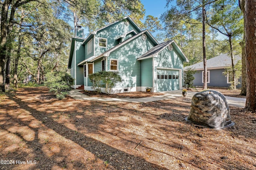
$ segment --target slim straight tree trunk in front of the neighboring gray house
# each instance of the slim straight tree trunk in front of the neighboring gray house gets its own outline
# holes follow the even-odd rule
[[[203,2],[204,5],[204,2]],[[203,22],[203,33],[202,33],[202,39],[203,39],[203,61],[204,61],[204,87],[203,89],[207,89],[207,61],[206,61],[206,39],[205,39],[205,6],[202,6],[202,22]]]

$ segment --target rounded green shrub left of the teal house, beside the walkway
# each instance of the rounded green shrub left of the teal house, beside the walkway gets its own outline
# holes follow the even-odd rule
[[[74,78],[66,72],[49,72],[46,74],[45,85],[54,92],[58,99],[65,98],[71,90]]]

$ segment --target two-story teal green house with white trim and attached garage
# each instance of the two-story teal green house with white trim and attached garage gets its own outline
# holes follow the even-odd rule
[[[128,16],[91,32],[86,38],[76,29],[72,37],[68,68],[73,88],[92,90],[89,74],[118,71],[123,81],[111,93],[181,90],[183,62],[188,62],[174,40],[158,43]],[[102,92],[105,89],[102,88]]]

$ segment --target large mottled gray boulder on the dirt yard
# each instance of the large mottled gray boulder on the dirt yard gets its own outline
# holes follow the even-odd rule
[[[204,90],[194,94],[186,120],[214,129],[234,125],[230,119],[230,109],[225,96],[215,90]]]

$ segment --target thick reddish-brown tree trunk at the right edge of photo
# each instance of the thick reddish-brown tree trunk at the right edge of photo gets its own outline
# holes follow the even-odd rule
[[[256,111],[256,1],[245,0],[245,32],[246,32],[246,104],[249,111]]]

